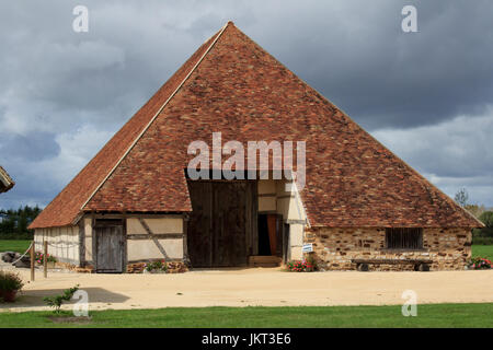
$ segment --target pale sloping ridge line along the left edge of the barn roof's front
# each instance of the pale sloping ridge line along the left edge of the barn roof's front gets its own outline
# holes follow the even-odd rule
[[[92,191],[92,194],[89,196],[89,198],[83,202],[83,205],[80,207],[80,210],[83,210],[83,208],[91,201],[91,199],[94,197],[94,195],[101,189],[101,187],[106,183],[106,180],[112,176],[112,174],[115,172],[115,170],[119,166],[119,164],[123,162],[123,160],[130,153],[130,151],[134,149],[134,147],[137,144],[137,142],[142,138],[142,136],[146,133],[146,131],[149,129],[149,127],[154,122],[154,120],[158,118],[158,116],[161,114],[161,112],[164,109],[164,107],[168,105],[168,103],[176,95],[179,90],[183,86],[183,84],[188,80],[188,78],[192,75],[192,73],[197,69],[197,67],[200,65],[200,62],[204,60],[204,58],[207,56],[207,54],[210,51],[210,49],[214,47],[214,45],[217,43],[219,37],[222,35],[222,33],[226,31],[229,24],[233,24],[233,22],[228,21],[219,31],[218,34],[216,34],[216,38],[210,43],[209,47],[206,49],[204,55],[198,59],[198,61],[192,67],[190,72],[186,74],[186,77],[182,80],[182,82],[176,86],[176,89],[171,93],[171,95],[167,98],[167,101],[162,104],[162,106],[156,112],[153,117],[149,120],[149,122],[146,125],[146,127],[140,131],[140,133],[137,136],[137,138],[131,142],[127,151],[122,155],[122,158],[116,162],[116,164],[112,167],[112,170],[108,172],[108,174],[103,178],[103,180],[98,185],[98,187]],[[234,25],[234,24],[233,24]],[[213,35],[214,36],[214,35]],[[213,37],[211,36],[211,37]],[[210,39],[210,38],[209,38]],[[207,40],[209,40],[207,39]],[[206,40],[206,43],[207,43]],[[76,222],[79,220],[79,218],[76,218]]]

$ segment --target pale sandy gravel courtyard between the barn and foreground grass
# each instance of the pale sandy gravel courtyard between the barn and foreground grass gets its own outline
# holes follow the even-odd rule
[[[27,269],[21,273],[28,280]],[[46,308],[44,296],[77,283],[89,293],[90,310],[402,304],[404,290],[415,291],[419,303],[493,302],[493,270],[290,273],[249,268],[179,275],[50,272],[47,279],[36,271],[19,301],[0,304],[0,312]]]

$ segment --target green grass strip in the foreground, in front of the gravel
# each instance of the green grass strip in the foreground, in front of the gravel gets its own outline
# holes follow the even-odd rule
[[[493,303],[401,306],[172,307],[90,312],[88,323],[54,323],[51,312],[0,313],[0,327],[493,327]],[[67,316],[69,315],[66,312]]]

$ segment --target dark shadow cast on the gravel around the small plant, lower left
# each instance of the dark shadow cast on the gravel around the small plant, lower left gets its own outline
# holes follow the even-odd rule
[[[102,288],[81,288],[88,292],[89,303],[104,303],[104,304],[118,304],[124,303],[129,298],[124,294],[118,294],[111,292]],[[14,303],[0,303],[0,311],[8,308],[30,308],[30,307],[41,307],[46,306],[43,301],[45,296],[54,296],[64,293],[64,289],[46,289],[46,290],[27,290],[21,292]],[[77,301],[70,301],[64,303],[67,305],[74,304]]]

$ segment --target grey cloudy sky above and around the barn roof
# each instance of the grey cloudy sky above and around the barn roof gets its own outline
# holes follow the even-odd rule
[[[228,20],[446,194],[493,206],[492,18],[489,0],[2,1],[0,164],[16,186],[0,208],[47,205]]]

